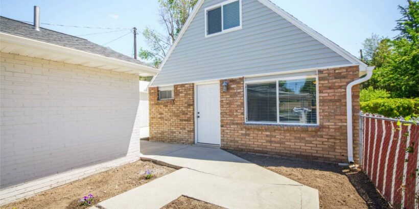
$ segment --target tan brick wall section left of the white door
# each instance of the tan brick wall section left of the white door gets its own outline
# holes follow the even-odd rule
[[[194,84],[174,86],[174,99],[158,100],[158,88],[149,88],[150,141],[193,144]]]

